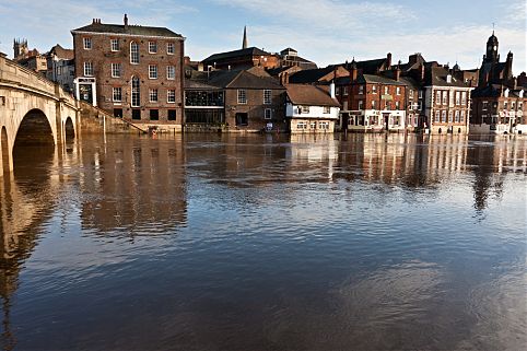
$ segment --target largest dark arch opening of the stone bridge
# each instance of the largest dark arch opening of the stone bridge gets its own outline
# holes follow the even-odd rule
[[[25,114],[19,126],[13,143],[13,151],[24,145],[55,145],[54,132],[49,120],[40,109]]]

